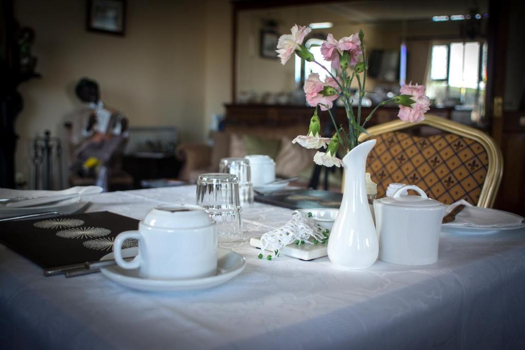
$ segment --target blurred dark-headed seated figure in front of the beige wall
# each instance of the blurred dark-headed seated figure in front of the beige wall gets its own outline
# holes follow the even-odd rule
[[[72,177],[95,178],[95,183],[107,191],[111,175],[121,172],[128,120],[120,111],[104,105],[95,80],[82,78],[75,92],[86,106],[66,124]]]

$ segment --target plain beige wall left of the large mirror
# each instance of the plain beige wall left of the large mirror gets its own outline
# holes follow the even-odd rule
[[[124,37],[85,29],[85,1],[15,0],[20,24],[35,29],[41,79],[20,86],[25,108],[17,171],[30,173],[30,139],[79,107],[81,77],[100,83],[102,100],[132,126],[174,125],[183,141],[203,141],[207,115],[223,113],[230,91],[230,4],[227,0],[128,0]],[[29,177],[28,177],[29,179]]]

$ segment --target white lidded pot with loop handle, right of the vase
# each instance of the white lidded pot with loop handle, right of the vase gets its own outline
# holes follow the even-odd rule
[[[419,196],[403,195],[408,189]],[[401,265],[435,263],[445,208],[414,185],[398,188],[392,197],[374,200],[379,259]]]

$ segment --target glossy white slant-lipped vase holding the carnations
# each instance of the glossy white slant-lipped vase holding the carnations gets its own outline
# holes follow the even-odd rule
[[[375,142],[363,142],[342,159],[343,199],[328,239],[328,258],[341,269],[367,269],[377,260],[379,253],[365,185],[366,157]]]

